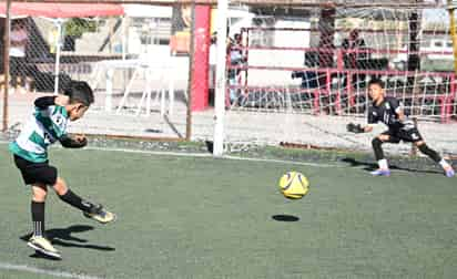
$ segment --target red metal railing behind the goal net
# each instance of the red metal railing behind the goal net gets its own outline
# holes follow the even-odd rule
[[[250,32],[251,30],[272,30],[277,31],[278,29],[268,29],[268,28],[248,28],[242,31],[246,32],[246,40],[250,40]],[[297,31],[297,29],[281,29],[284,31]],[[313,31],[312,29],[299,29],[298,31]],[[318,52],[318,53],[329,53],[333,58],[336,56],[336,68],[324,68],[324,69],[309,69],[309,68],[295,68],[295,66],[263,66],[263,65],[240,65],[233,66],[230,64],[227,60],[227,68],[228,70],[242,70],[245,72],[245,83],[244,85],[231,85],[227,86],[227,92],[231,89],[241,89],[242,91],[248,92],[251,90],[255,90],[255,86],[250,86],[248,84],[248,71],[250,70],[268,70],[268,71],[311,71],[318,73],[319,76],[325,76],[325,86],[321,86],[318,89],[312,90],[304,90],[299,89],[299,92],[303,93],[311,93],[314,95],[314,111],[315,113],[319,112],[321,107],[321,96],[335,96],[335,111],[342,112],[342,94],[347,95],[348,106],[354,107],[356,106],[356,99],[359,95],[359,92],[354,92],[352,86],[352,78],[357,74],[366,74],[366,75],[376,75],[376,76],[402,76],[402,78],[416,78],[416,76],[430,76],[430,78],[441,78],[449,81],[449,90],[441,94],[424,94],[423,97],[430,100],[436,99],[439,103],[440,107],[440,120],[441,122],[448,122],[451,114],[453,114],[453,102],[456,100],[456,84],[455,84],[455,73],[454,72],[425,72],[425,71],[399,71],[399,70],[363,70],[363,69],[345,69],[344,68],[344,56],[351,53],[376,53],[376,54],[398,54],[398,53],[408,53],[408,54],[417,54],[418,56],[429,55],[429,54],[449,54],[451,55],[453,52],[439,52],[439,51],[417,51],[417,52],[408,52],[404,50],[375,50],[375,49],[328,49],[328,48],[286,48],[286,46],[244,46],[244,45],[236,45],[233,46],[232,50],[240,50],[248,61],[248,54],[252,50],[272,50],[272,51],[303,51],[303,52]],[[228,59],[228,58],[227,58]],[[335,59],[333,59],[335,60]],[[247,64],[247,63],[246,63]],[[322,74],[322,75],[321,75]],[[337,90],[332,89],[332,78],[333,76],[345,76],[347,79],[346,89],[341,90],[338,86]],[[319,78],[319,80],[323,78]],[[324,79],[323,79],[324,80]],[[339,82],[339,81],[338,81]],[[240,83],[238,83],[240,84]],[[268,87],[262,87],[264,91],[268,91]],[[272,91],[278,91],[278,89],[270,87]],[[257,89],[258,90],[258,89]],[[281,90],[280,90],[281,91]],[[291,89],[287,89],[288,92],[292,92]],[[307,92],[306,92],[307,91]],[[388,93],[388,92],[387,92]],[[366,95],[366,94],[364,94]],[[415,99],[414,94],[404,95],[404,99]],[[228,97],[227,97],[228,100]]]

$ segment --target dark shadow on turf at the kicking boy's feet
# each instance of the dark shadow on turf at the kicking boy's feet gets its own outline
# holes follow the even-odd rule
[[[90,244],[87,244],[88,240],[72,236],[73,232],[84,232],[84,231],[92,230],[92,229],[93,229],[92,226],[73,225],[68,228],[50,229],[50,230],[47,230],[45,234],[47,234],[47,238],[55,246],[87,248],[87,249],[95,249],[95,250],[102,250],[102,251],[114,251],[115,250],[114,248],[108,247],[108,246],[90,245]],[[28,241],[31,236],[32,234],[28,234],[28,235],[21,236],[20,239]],[[50,258],[41,254],[34,254],[30,257],[47,258],[47,259]]]

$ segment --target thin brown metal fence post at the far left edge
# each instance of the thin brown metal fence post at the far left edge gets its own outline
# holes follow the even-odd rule
[[[3,123],[2,132],[8,130],[8,95],[10,79],[10,29],[11,29],[11,0],[7,1],[7,19],[4,23],[4,50],[3,50],[3,72],[4,72],[4,91],[3,91]]]

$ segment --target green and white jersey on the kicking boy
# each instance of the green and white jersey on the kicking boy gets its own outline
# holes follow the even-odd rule
[[[59,105],[34,110],[31,120],[9,147],[27,161],[42,163],[48,161],[48,146],[67,134],[69,115],[65,107]]]

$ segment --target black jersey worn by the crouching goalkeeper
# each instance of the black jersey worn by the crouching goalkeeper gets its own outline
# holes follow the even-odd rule
[[[368,108],[368,124],[383,122],[389,130],[398,130],[404,125],[398,120],[397,111],[402,108],[402,103],[395,99],[386,96],[379,105],[374,103]]]

